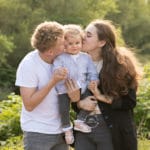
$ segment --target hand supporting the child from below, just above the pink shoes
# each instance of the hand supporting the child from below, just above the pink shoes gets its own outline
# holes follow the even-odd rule
[[[94,96],[88,96],[78,102],[78,107],[87,111],[93,111],[97,105],[97,101]]]

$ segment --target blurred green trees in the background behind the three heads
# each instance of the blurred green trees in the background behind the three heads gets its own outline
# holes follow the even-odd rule
[[[0,90],[14,84],[14,70],[32,50],[30,37],[39,23],[55,20],[85,27],[97,18],[114,22],[119,44],[127,44],[141,55],[150,54],[149,0],[0,0],[0,70],[5,68],[0,71]]]

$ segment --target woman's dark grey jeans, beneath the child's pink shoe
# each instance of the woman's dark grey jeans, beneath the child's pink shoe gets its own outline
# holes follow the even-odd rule
[[[100,115],[100,123],[91,133],[76,132],[75,150],[113,150],[110,130]]]

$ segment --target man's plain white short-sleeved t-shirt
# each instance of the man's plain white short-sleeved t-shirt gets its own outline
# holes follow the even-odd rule
[[[16,86],[41,89],[50,80],[52,65],[44,62],[37,50],[30,52],[21,61],[16,76]],[[33,110],[27,111],[23,105],[21,112],[23,131],[46,134],[62,133],[58,97],[52,88],[44,100]]]

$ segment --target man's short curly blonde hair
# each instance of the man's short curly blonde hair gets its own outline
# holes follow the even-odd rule
[[[57,39],[64,34],[63,26],[55,21],[45,21],[39,24],[32,37],[31,45],[33,48],[44,52],[56,45]]]

